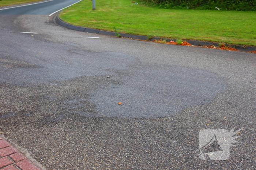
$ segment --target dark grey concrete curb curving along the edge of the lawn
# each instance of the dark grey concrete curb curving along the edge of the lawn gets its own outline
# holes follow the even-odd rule
[[[89,33],[97,33],[100,35],[108,35],[108,36],[116,36],[116,32],[110,32],[110,31],[102,31],[99,29],[91,29],[91,28],[84,28],[84,27],[78,27],[75,25],[71,25],[68,23],[65,23],[59,18],[59,15],[53,18],[53,20],[56,20],[56,23],[72,30],[76,31],[82,31],[82,32],[89,32]],[[126,33],[120,33],[121,37],[125,38],[131,38],[131,39],[136,39],[136,40],[148,40],[147,36],[143,35],[132,35],[132,34],[126,34]],[[169,42],[173,40],[176,42],[176,39],[166,39],[166,38],[161,38],[161,37],[152,37],[149,40],[166,40],[166,42]],[[197,40],[186,40],[188,43],[192,44],[193,46],[215,46],[218,47],[220,43],[213,43],[213,42],[208,42],[208,41],[197,41]],[[245,51],[245,52],[250,52],[250,51],[256,51],[256,47],[254,46],[242,46],[242,45],[236,45],[236,44],[225,44],[227,47],[235,48],[240,51]]]

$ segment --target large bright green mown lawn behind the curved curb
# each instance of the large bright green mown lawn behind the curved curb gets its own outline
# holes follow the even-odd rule
[[[84,0],[60,19],[121,33],[256,46],[256,12],[159,9],[130,0],[96,0],[92,10],[92,1]]]

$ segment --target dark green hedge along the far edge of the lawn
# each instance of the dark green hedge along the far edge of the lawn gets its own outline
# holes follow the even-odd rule
[[[145,4],[169,9],[210,9],[256,11],[256,0],[140,0]],[[215,8],[217,7],[217,8]]]

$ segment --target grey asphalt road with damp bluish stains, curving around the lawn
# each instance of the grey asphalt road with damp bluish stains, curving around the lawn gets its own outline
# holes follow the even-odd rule
[[[0,11],[4,137],[46,170],[256,169],[255,54],[54,24],[72,3]]]

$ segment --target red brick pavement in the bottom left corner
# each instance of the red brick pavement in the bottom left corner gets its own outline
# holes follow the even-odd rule
[[[0,170],[41,170],[24,154],[0,137]]]

